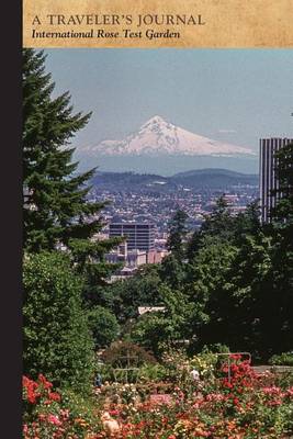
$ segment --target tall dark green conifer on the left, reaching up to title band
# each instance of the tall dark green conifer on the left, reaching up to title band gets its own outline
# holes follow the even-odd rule
[[[102,261],[115,240],[92,241],[103,224],[104,203],[89,203],[86,182],[94,169],[78,175],[69,144],[90,114],[74,113],[70,94],[53,97],[55,83],[45,71],[43,52],[23,50],[23,187],[24,248],[38,252],[58,244],[71,249],[80,270],[91,267],[94,278],[106,274]]]

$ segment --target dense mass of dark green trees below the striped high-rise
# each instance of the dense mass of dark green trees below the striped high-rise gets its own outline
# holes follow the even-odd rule
[[[148,301],[144,303],[140,294],[153,282],[145,272],[139,282],[136,278],[114,286],[123,291],[116,295],[116,309],[124,315],[132,309],[131,339],[157,356],[164,344],[184,339],[193,352],[206,344],[226,344],[262,361],[290,349],[293,264],[283,229],[261,226],[256,203],[232,216],[221,198],[191,237],[188,260],[172,251],[156,269],[155,294]],[[165,311],[137,318],[138,304],[161,305]]]

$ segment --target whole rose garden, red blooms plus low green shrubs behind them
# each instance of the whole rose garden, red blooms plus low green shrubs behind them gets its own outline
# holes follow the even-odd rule
[[[123,382],[111,381],[125,370]],[[199,371],[199,379],[191,370]],[[93,386],[87,399],[58,392],[43,375],[24,378],[24,438],[293,436],[293,373],[273,368],[258,373],[240,354],[188,358],[172,350],[161,363],[128,370],[103,363],[101,373],[109,381]]]

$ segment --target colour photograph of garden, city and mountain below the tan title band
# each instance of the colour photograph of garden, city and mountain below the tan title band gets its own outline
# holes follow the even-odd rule
[[[23,438],[293,438],[292,48],[22,49]]]

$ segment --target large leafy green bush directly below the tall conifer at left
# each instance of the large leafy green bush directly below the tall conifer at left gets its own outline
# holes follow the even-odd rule
[[[93,341],[81,306],[81,279],[58,252],[24,260],[24,373],[40,371],[57,386],[86,391],[93,374]]]

